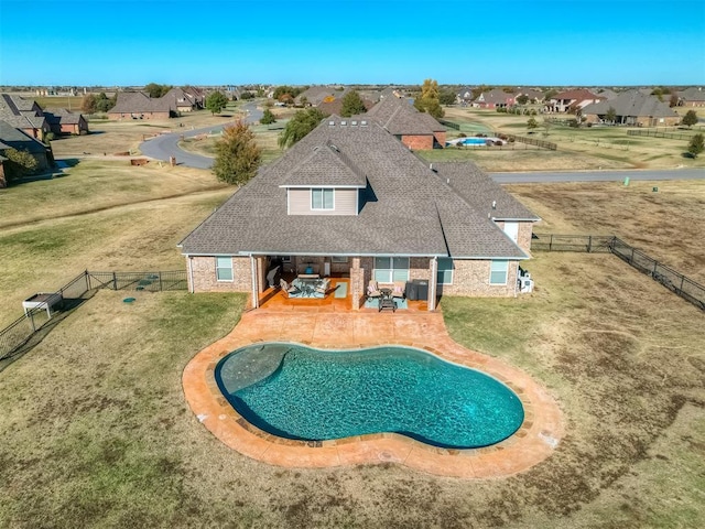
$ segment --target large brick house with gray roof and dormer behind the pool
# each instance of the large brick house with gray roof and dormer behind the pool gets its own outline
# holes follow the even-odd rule
[[[249,292],[269,263],[370,280],[425,280],[440,294],[513,296],[539,218],[471,162],[430,166],[373,121],[329,117],[178,245],[192,292]],[[314,272],[315,273],[315,272]]]

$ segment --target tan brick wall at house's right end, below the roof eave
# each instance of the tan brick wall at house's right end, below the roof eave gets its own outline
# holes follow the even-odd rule
[[[453,261],[453,284],[438,284],[438,294],[471,295],[475,298],[516,295],[519,261],[509,261],[507,284],[489,284],[490,262],[455,259]]]

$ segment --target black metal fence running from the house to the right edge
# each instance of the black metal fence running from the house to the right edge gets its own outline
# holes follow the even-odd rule
[[[531,249],[536,251],[610,252],[660,282],[671,292],[705,311],[705,287],[647,256],[615,236],[534,234]]]

